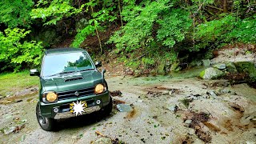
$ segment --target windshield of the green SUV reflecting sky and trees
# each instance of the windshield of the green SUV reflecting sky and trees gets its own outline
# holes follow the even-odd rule
[[[50,54],[44,58],[42,76],[53,76],[55,74],[67,74],[92,69],[94,69],[94,66],[92,66],[90,58],[86,53]]]

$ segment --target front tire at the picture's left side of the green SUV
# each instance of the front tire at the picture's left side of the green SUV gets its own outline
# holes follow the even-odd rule
[[[42,130],[51,131],[54,129],[54,118],[42,117],[39,102],[36,107],[36,116],[38,119],[38,124],[41,126]]]

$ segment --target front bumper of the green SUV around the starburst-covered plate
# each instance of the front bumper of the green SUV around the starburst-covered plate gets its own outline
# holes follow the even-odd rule
[[[99,104],[96,103],[97,100],[101,102]],[[72,102],[83,101],[87,103],[87,107],[85,109],[85,113],[90,114],[94,111],[101,110],[102,107],[106,106],[110,102],[110,94],[109,91],[106,91],[103,94],[93,94],[90,96],[84,96],[79,98],[70,98],[62,101],[58,101],[56,103],[44,103],[40,102],[40,110],[42,117],[45,118],[68,118],[70,116],[75,116],[70,112],[70,103]],[[54,112],[54,109],[58,109],[58,112]]]

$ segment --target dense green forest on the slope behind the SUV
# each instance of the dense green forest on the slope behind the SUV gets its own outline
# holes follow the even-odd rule
[[[253,0],[2,0],[0,71],[39,66],[44,50],[65,46],[166,74],[254,45],[255,12]]]

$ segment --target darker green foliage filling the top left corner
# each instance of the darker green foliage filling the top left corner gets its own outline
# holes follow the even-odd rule
[[[9,28],[29,27],[31,24],[30,11],[33,5],[32,0],[1,0],[0,23],[5,23]]]

